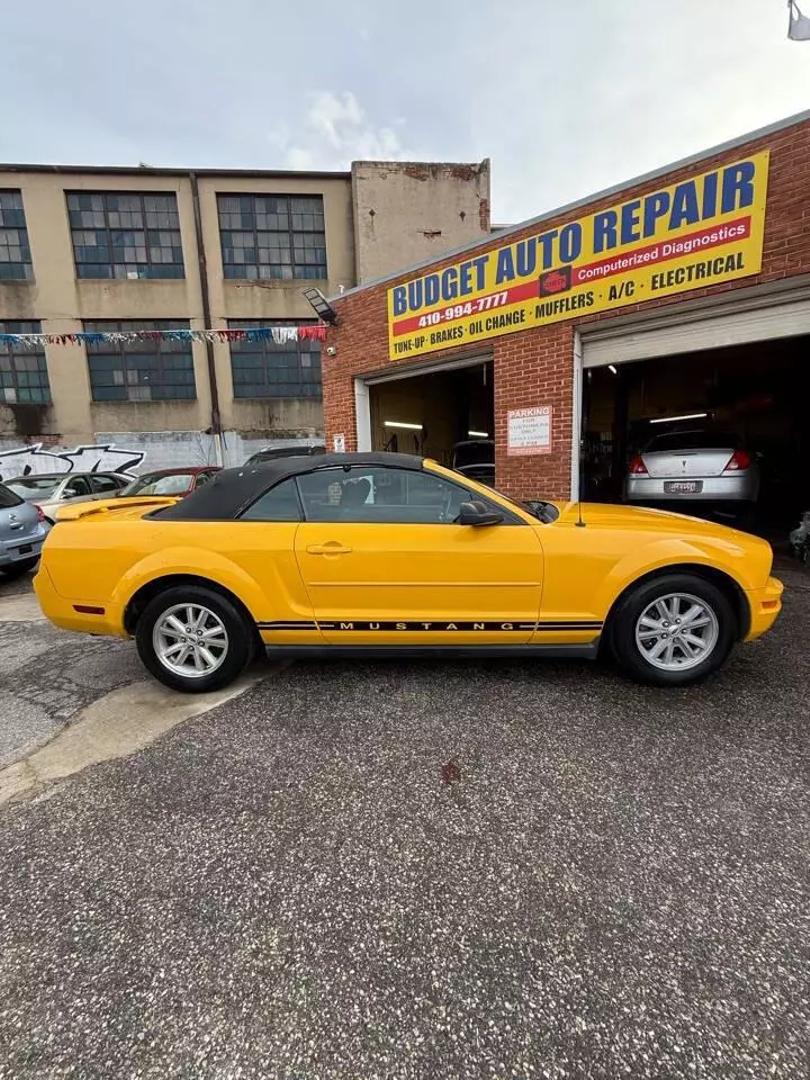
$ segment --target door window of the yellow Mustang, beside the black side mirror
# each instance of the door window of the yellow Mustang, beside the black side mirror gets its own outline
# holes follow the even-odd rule
[[[408,469],[352,465],[321,469],[298,477],[308,522],[451,524],[467,488]]]

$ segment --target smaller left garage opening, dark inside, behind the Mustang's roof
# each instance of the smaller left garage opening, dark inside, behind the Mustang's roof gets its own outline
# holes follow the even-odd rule
[[[368,395],[373,449],[424,455],[491,483],[491,361],[373,383]]]

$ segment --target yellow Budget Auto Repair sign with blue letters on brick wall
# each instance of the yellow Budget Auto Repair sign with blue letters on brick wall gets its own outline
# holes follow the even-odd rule
[[[391,360],[757,273],[768,151],[388,291]]]

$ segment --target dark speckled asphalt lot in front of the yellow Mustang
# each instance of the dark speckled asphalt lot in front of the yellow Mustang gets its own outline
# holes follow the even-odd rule
[[[295,664],[0,815],[0,1077],[804,1078],[810,576],[701,688]]]

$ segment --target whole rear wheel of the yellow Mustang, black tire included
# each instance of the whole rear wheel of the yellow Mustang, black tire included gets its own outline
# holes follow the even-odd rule
[[[192,612],[191,622],[185,609]],[[207,616],[202,623],[195,623],[195,613],[200,611]],[[202,631],[195,631],[194,625],[202,625]],[[186,626],[191,631],[188,637]],[[164,686],[183,693],[205,693],[232,683],[253,659],[254,639],[255,633],[233,600],[202,585],[166,589],[147,604],[135,627],[144,665]],[[194,643],[191,648],[187,647],[189,642]],[[208,664],[205,652],[194,647],[198,643],[213,657],[214,666]],[[167,649],[170,657],[163,656]],[[177,664],[177,660],[184,662]],[[203,671],[192,670],[197,663],[202,664]]]

